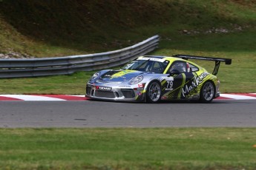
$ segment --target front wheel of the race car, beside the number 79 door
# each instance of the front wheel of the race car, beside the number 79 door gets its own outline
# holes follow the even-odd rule
[[[158,103],[161,99],[161,85],[157,81],[152,81],[148,84],[147,89],[147,102],[148,103]]]

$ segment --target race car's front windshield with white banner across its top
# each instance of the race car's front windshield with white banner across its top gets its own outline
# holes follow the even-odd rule
[[[144,72],[163,73],[169,61],[159,58],[137,58],[126,64],[122,69],[131,69]]]

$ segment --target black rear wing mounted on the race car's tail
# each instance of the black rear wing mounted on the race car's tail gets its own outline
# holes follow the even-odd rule
[[[207,61],[215,61],[215,67],[212,72],[213,75],[217,75],[217,72],[220,67],[220,62],[225,62],[225,64],[232,64],[232,59],[230,58],[213,58],[213,57],[203,57],[203,56],[195,56],[195,55],[173,55],[176,58],[183,58],[184,60],[188,59],[197,59],[197,60],[207,60]]]

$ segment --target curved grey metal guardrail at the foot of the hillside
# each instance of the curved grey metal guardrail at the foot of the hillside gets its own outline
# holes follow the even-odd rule
[[[111,52],[57,58],[0,59],[0,78],[67,75],[77,71],[117,67],[155,50],[159,41],[159,35],[154,35],[131,47]]]

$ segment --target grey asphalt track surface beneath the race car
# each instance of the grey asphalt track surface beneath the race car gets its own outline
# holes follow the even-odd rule
[[[0,101],[0,127],[256,127],[256,100]]]

